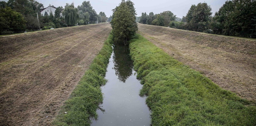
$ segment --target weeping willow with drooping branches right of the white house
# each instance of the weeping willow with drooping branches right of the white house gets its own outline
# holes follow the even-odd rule
[[[66,3],[65,9],[63,10],[63,15],[65,17],[66,23],[69,26],[76,25],[76,23],[79,19],[78,9],[75,8],[74,3],[72,3],[72,4]]]

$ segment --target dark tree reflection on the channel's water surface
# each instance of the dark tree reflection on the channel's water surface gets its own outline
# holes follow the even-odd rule
[[[118,79],[125,82],[126,79],[132,75],[133,62],[129,55],[128,46],[115,45],[113,48],[114,69]]]

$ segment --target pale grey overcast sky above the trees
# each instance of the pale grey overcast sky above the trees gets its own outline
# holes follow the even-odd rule
[[[2,1],[2,0],[1,0]],[[8,0],[4,0],[8,1]],[[75,6],[81,5],[84,0],[37,0],[42,3],[44,7],[48,7],[49,4],[58,6],[65,6],[66,3],[74,2]],[[134,7],[137,11],[137,16],[141,16],[142,12],[154,12],[154,14],[161,13],[163,11],[171,11],[177,17],[182,18],[186,16],[192,4],[197,5],[200,2],[206,2],[212,7],[213,15],[219,10],[219,8],[225,3],[226,0],[131,0],[134,3]],[[112,9],[114,9],[121,0],[91,0],[90,3],[97,13],[103,11],[109,17],[112,15]]]

